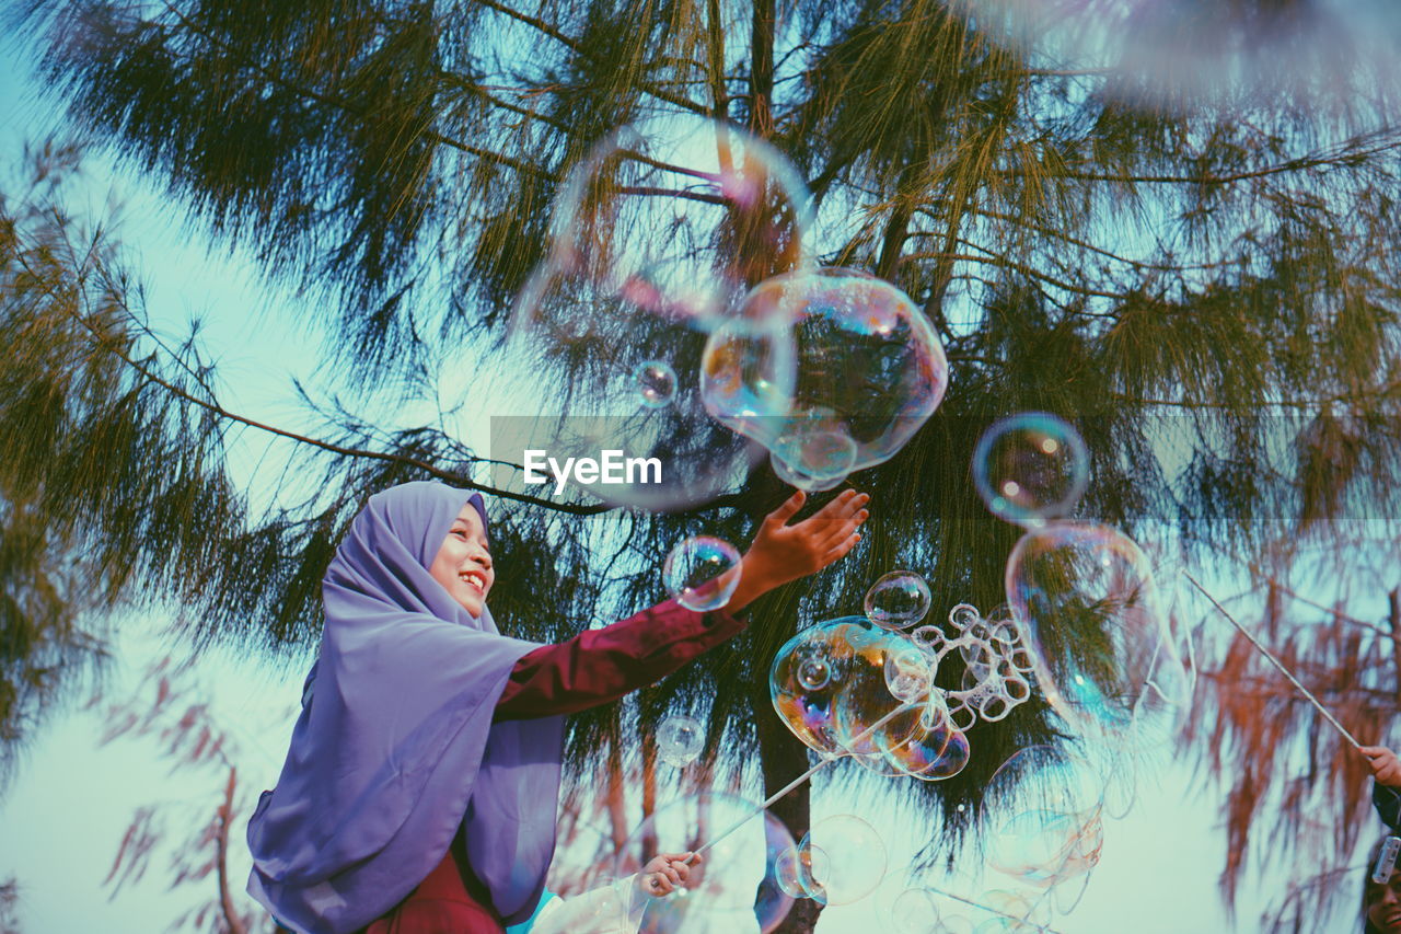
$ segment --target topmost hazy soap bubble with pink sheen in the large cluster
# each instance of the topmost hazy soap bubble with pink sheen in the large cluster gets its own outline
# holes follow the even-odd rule
[[[601,334],[619,304],[708,330],[755,282],[808,264],[810,226],[810,195],[769,143],[706,119],[640,121],[570,174],[513,330]]]

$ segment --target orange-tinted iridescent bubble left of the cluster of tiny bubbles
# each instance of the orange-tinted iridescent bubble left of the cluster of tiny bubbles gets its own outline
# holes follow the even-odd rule
[[[773,710],[794,736],[821,753],[850,752],[881,759],[883,743],[899,743],[919,729],[919,705],[899,710],[906,704],[885,683],[885,659],[909,649],[909,641],[860,616],[808,627],[773,658],[769,669]],[[825,669],[825,682],[814,661]],[[887,715],[890,719],[881,722]],[[883,774],[897,773],[890,769]]]

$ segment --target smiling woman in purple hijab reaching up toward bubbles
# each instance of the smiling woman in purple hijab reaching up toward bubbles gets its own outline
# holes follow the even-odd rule
[[[846,491],[759,526],[726,610],[674,600],[558,645],[502,635],[481,495],[436,482],[370,498],[322,581],[325,628],[276,788],[248,823],[248,891],[308,934],[500,934],[548,898],[563,717],[677,670],[733,613],[859,541]],[[637,879],[663,895],[678,854]]]

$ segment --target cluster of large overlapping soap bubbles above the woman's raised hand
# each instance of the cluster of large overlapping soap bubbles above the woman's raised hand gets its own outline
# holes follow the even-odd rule
[[[664,460],[660,482],[580,484],[643,509],[713,498],[765,456],[808,491],[891,457],[943,398],[943,346],[895,286],[820,268],[811,226],[800,172],[737,128],[643,119],[601,142],[513,310],[516,352],[587,369],[574,417],[531,446]]]

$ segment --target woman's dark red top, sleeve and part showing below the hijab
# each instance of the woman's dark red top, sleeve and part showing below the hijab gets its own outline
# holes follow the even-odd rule
[[[667,600],[621,623],[580,632],[558,645],[541,645],[516,662],[496,703],[496,719],[530,719],[576,714],[654,684],[678,668],[744,628],[724,610],[696,613]],[[502,934],[504,930],[482,899],[461,847],[398,907],[366,928],[366,934]]]

